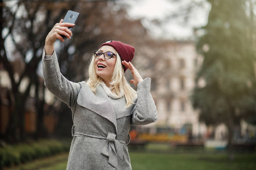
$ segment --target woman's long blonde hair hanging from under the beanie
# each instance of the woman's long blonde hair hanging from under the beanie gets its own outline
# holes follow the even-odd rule
[[[96,74],[94,61],[95,57],[92,56],[92,60],[89,65],[89,79],[87,80],[87,84],[94,92],[94,94],[96,94],[96,88],[100,84],[102,84],[103,80],[100,76]],[[115,62],[115,67],[112,74],[112,82],[110,83],[110,85],[112,86],[112,93],[115,96],[119,96],[121,94],[125,96],[126,108],[129,108],[133,104],[134,98],[137,97],[137,92],[133,88],[131,88],[130,84],[125,78],[121,58],[118,53],[117,61]]]

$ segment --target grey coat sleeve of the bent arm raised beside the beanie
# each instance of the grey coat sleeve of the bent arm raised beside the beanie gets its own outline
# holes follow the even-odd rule
[[[158,120],[155,102],[150,94],[151,78],[138,83],[137,103],[131,118],[132,125],[147,125]]]

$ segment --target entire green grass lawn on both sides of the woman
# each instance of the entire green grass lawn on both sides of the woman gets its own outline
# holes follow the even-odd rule
[[[38,159],[7,170],[65,170],[68,153]],[[229,162],[226,154],[160,154],[130,152],[133,170],[250,170],[256,169],[256,154],[236,154]]]

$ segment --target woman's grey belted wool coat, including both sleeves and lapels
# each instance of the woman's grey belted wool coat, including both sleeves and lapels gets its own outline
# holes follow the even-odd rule
[[[138,83],[138,97],[126,108],[125,97],[113,99],[102,86],[94,94],[85,81],[74,83],[60,73],[55,52],[47,57],[43,52],[44,84],[72,110],[67,169],[131,169],[127,148],[130,126],[158,120],[150,94],[151,79]]]

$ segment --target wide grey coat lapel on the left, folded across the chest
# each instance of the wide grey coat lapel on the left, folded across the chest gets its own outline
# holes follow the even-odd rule
[[[108,96],[101,86],[97,88],[96,94],[90,90],[87,84],[82,86],[77,97],[77,104],[108,119],[114,124],[117,132],[117,118],[115,117],[114,108],[109,103]]]

